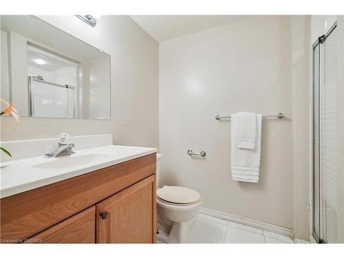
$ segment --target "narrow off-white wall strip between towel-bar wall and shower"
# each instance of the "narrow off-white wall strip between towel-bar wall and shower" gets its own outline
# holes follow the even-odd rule
[[[292,20],[292,228],[309,237],[310,189],[310,16]]]

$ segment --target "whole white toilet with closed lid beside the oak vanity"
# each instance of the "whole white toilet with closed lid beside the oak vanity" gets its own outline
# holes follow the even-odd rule
[[[202,206],[200,193],[182,186],[162,186],[159,188],[161,154],[156,162],[156,204],[158,242],[188,243],[190,222]]]

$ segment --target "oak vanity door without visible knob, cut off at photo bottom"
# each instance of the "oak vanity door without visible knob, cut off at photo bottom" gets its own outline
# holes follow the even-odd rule
[[[25,243],[92,244],[96,238],[96,207],[92,206],[30,237]]]

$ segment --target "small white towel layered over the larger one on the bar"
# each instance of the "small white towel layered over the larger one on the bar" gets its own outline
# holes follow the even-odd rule
[[[238,112],[235,116],[235,122],[237,123],[236,126],[238,130],[237,147],[244,149],[255,149],[257,140],[256,114],[252,112]]]

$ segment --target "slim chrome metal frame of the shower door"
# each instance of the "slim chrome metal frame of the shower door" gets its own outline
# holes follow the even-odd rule
[[[320,36],[312,45],[312,236],[316,240],[317,243],[320,244],[326,244],[326,230],[325,230],[325,219],[326,219],[326,213],[324,211],[325,206],[323,205],[323,175],[321,173],[321,75],[323,72],[323,66],[321,65],[321,61],[323,61],[323,49],[321,48],[321,45],[325,42],[327,39],[327,36],[330,36],[331,32],[336,28],[336,22],[331,26],[330,30],[326,32],[323,36]],[[319,52],[318,52],[318,60],[314,60],[314,50],[316,47],[319,45]],[[318,63],[318,69],[317,69],[317,78],[318,78],[318,85],[316,88],[315,82],[314,82],[314,64],[315,62]],[[315,92],[315,89],[317,89],[317,92]],[[316,94],[317,93],[317,94]],[[317,109],[315,110],[315,103],[317,103]],[[315,125],[314,123],[314,118],[317,118],[318,120],[318,125]],[[315,156],[315,151],[314,151],[314,129],[317,131],[317,136],[318,136],[318,148],[315,150],[317,152],[316,158]],[[314,171],[314,163],[318,164],[318,171]],[[319,186],[319,211],[316,211],[314,208],[314,173],[318,173],[318,179],[319,182],[317,182]],[[319,235],[316,234],[314,231],[314,214],[319,212]]]

